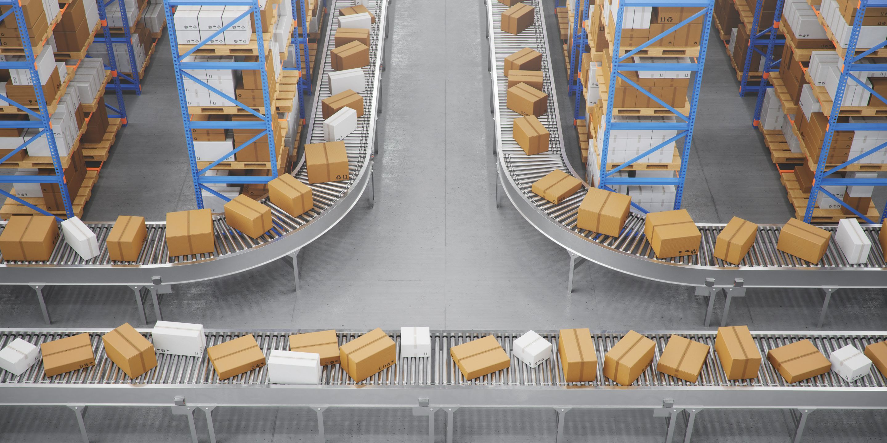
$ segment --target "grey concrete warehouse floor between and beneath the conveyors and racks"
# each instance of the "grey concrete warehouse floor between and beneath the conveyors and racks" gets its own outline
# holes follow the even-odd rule
[[[705,329],[704,300],[684,287],[592,264],[580,268],[576,290],[566,293],[564,250],[510,203],[494,205],[483,5],[397,0],[392,8],[375,206],[358,204],[304,248],[302,291],[293,291],[292,268],[279,260],[216,281],[177,286],[163,299],[165,320],[240,330]],[[557,42],[553,13],[548,19],[551,41]],[[560,48],[552,53],[564,78]],[[738,84],[716,38],[708,54],[685,206],[703,222],[726,222],[733,215],[783,222],[793,211],[750,127],[754,98],[737,97]],[[101,172],[84,217],[88,221],[119,214],[162,220],[168,211],[194,205],[166,40],[144,90],[127,99],[130,127]],[[562,116],[572,113],[564,91],[558,97]],[[574,136],[569,122],[564,125]],[[730,323],[749,324],[752,330],[813,330],[820,304],[816,291],[753,290],[734,301]],[[131,292],[122,288],[57,288],[48,305],[59,328],[139,326]],[[720,300],[717,315],[722,306]],[[841,291],[823,330],[887,330],[885,307],[883,291]],[[0,326],[41,328],[41,318],[31,291],[0,287]],[[0,410],[0,442],[75,436],[75,417],[67,408]],[[458,441],[535,442],[552,440],[555,431],[553,413],[546,409],[459,411],[456,417]],[[823,410],[813,417],[805,442],[887,440],[884,412]],[[332,408],[326,414],[327,439],[415,442],[427,429],[425,420],[406,409]],[[202,422],[199,417],[201,441],[206,441]],[[224,435],[220,441],[229,443],[314,441],[316,431],[313,412],[304,408],[219,408],[215,423]],[[788,414],[772,411],[704,411],[694,441],[786,441],[790,424]],[[170,416],[168,408],[90,408],[86,425],[93,442],[188,439],[184,417]],[[592,435],[614,442],[657,441],[664,429],[646,410],[574,410],[566,423],[567,441]],[[437,431],[442,441],[443,416]]]

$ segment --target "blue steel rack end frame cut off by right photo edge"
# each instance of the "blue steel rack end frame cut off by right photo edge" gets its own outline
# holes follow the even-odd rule
[[[867,72],[867,71],[887,71],[887,64],[884,63],[875,63],[875,64],[860,64],[860,60],[862,58],[867,57],[875,51],[882,49],[887,46],[887,41],[878,43],[873,48],[863,51],[860,55],[856,54],[856,44],[860,40],[860,30],[862,27],[862,19],[866,15],[866,9],[868,7],[873,8],[885,8],[887,7],[887,0],[860,0],[859,9],[856,12],[856,17],[853,19],[853,29],[850,35],[850,42],[847,45],[847,49],[844,51],[844,66],[842,66],[841,70],[841,78],[838,80],[837,89],[834,97],[834,104],[832,105],[831,112],[828,115],[828,130],[826,131],[825,136],[822,141],[822,149],[820,151],[820,159],[816,164],[816,175],[813,178],[813,185],[810,190],[810,199],[807,201],[807,210],[804,214],[804,221],[810,222],[812,221],[813,216],[813,208],[816,207],[816,198],[819,196],[820,192],[824,193],[826,196],[834,199],[841,206],[844,206],[848,210],[850,210],[853,214],[860,216],[864,221],[868,223],[874,223],[875,221],[869,219],[866,214],[860,213],[856,208],[852,206],[848,206],[844,203],[841,198],[836,198],[831,192],[828,190],[822,189],[823,186],[887,186],[887,178],[829,178],[829,175],[833,175],[836,172],[840,171],[844,167],[847,167],[853,163],[865,163],[865,158],[875,152],[881,151],[884,147],[887,147],[887,143],[880,144],[872,148],[867,152],[863,152],[860,155],[853,157],[852,159],[848,159],[844,163],[832,167],[826,170],[826,164],[828,160],[828,151],[831,148],[832,138],[835,136],[835,131],[887,131],[887,123],[838,123],[837,117],[838,113],[841,112],[841,104],[844,103],[844,92],[846,92],[847,82],[852,80],[853,82],[857,82],[865,88],[872,97],[876,97],[885,103],[887,100],[881,95],[875,92],[875,89],[871,89],[867,86],[867,84],[860,80],[859,77],[853,75],[854,72]],[[840,51],[839,54],[840,55]],[[880,222],[883,222],[884,217],[887,216],[887,206],[884,206],[884,209],[881,213]]]

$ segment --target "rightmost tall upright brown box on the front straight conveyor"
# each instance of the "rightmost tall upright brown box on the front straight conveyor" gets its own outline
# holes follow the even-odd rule
[[[727,380],[757,378],[761,354],[757,351],[748,326],[718,328],[715,352],[718,353]]]

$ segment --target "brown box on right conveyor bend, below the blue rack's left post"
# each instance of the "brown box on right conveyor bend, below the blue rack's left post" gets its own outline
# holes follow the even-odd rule
[[[576,227],[619,237],[631,208],[632,198],[627,195],[589,188],[579,205]]]

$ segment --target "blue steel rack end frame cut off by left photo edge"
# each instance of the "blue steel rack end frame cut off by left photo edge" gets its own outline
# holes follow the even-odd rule
[[[21,11],[21,5],[18,0],[0,0],[0,6],[12,6],[8,11],[0,14],[0,21],[9,17],[10,14],[15,16],[16,26],[19,27],[19,36],[21,40],[21,46],[24,48],[25,52],[25,61],[2,61],[0,62],[0,69],[27,69],[28,74],[31,77],[31,83],[34,86],[34,95],[37,100],[37,113],[34,111],[27,109],[26,106],[20,105],[12,101],[9,97],[4,97],[0,95],[5,102],[13,105],[23,112],[27,113],[32,117],[36,117],[40,120],[0,120],[0,128],[37,128],[40,129],[35,136],[27,139],[24,144],[21,144],[18,148],[13,149],[12,152],[4,155],[0,158],[0,163],[4,163],[8,159],[10,159],[17,152],[20,152],[23,149],[27,148],[28,144],[33,143],[35,140],[40,138],[41,136],[46,137],[46,142],[49,144],[50,154],[52,158],[52,167],[54,169],[55,175],[0,175],[0,183],[56,183],[59,185],[59,191],[61,192],[62,201],[65,205],[65,214],[67,218],[71,218],[74,216],[74,207],[71,206],[71,198],[67,194],[67,184],[65,183],[65,171],[62,168],[61,159],[59,159],[59,149],[55,143],[55,136],[52,133],[52,127],[50,124],[50,113],[46,106],[46,99],[43,97],[43,85],[40,82],[40,76],[37,74],[37,69],[35,65],[35,57],[34,57],[34,49],[31,48],[31,39],[30,36],[27,35],[27,23],[25,22],[25,14]],[[54,98],[54,97],[52,97]],[[25,205],[31,209],[34,209],[39,214],[50,215],[49,212],[43,210],[40,207],[31,205],[27,201],[22,198],[16,197],[10,192],[5,190],[0,190],[0,194],[4,195],[7,198],[12,198],[13,200]],[[59,219],[59,217],[56,217]],[[60,220],[60,219],[59,219]]]

